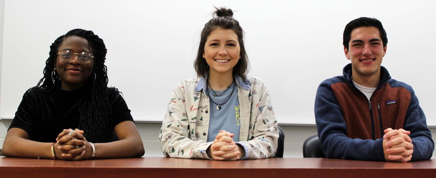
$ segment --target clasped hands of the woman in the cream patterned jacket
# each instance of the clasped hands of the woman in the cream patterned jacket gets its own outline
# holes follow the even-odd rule
[[[233,141],[233,136],[235,134],[225,130],[219,131],[214,142],[207,150],[209,157],[220,161],[235,161],[244,157],[244,148]]]

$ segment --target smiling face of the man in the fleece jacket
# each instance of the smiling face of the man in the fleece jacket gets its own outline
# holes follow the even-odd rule
[[[380,32],[374,26],[364,26],[351,31],[349,47],[344,47],[345,56],[351,60],[354,76],[380,77],[380,65],[386,54]]]

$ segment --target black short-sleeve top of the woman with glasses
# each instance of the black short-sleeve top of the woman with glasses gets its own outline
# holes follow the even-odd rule
[[[50,92],[26,92],[9,129],[23,129],[33,141],[56,142],[63,129],[80,129],[79,104],[85,92],[86,86],[74,91],[64,91],[55,86]],[[110,88],[108,95],[112,109],[112,129],[120,122],[133,121],[123,97]]]

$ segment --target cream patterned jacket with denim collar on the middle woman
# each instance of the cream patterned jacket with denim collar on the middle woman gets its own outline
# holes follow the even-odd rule
[[[242,159],[271,158],[276,154],[277,121],[265,84],[255,77],[235,77],[241,128],[238,145],[245,149]],[[211,159],[206,153],[211,109],[205,94],[205,79],[188,79],[174,86],[159,139],[162,152],[172,158]]]

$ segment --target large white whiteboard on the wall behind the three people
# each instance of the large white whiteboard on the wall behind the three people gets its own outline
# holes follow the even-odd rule
[[[388,33],[382,66],[413,86],[428,125],[436,125],[433,0],[5,0],[0,118],[13,118],[42,77],[50,44],[83,28],[105,41],[109,86],[124,93],[133,118],[161,121],[173,86],[195,77],[199,35],[213,6],[237,11],[250,75],[268,86],[279,123],[315,123],[317,86],[349,63],[345,25],[369,16]]]

